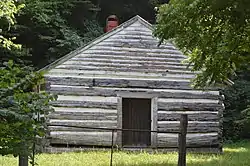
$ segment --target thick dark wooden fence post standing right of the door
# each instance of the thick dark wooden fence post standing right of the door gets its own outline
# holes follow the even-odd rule
[[[187,114],[181,115],[180,119],[180,133],[178,137],[178,166],[186,166],[186,135],[188,127],[188,116]]]

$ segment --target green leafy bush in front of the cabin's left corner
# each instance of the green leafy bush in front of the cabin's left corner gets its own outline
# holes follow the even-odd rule
[[[55,96],[32,92],[42,76],[27,67],[4,64],[0,70],[0,154],[31,156],[36,136],[45,134],[45,119]],[[38,115],[43,115],[38,118]]]

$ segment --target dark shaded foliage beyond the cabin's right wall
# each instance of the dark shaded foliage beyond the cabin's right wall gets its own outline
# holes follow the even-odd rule
[[[250,138],[250,81],[235,80],[232,87],[223,90],[225,95],[223,135],[226,140]]]

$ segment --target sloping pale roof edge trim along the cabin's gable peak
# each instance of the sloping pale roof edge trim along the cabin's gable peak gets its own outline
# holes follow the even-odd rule
[[[145,27],[147,27],[148,29],[150,30],[153,30],[153,26],[147,22],[146,20],[144,20],[142,17],[140,17],[139,15],[136,15],[135,17],[131,18],[130,20],[124,22],[123,24],[120,24],[118,27],[114,28],[113,30],[107,32],[107,33],[104,33],[103,35],[101,35],[100,37],[94,39],[93,41],[85,44],[84,46],[82,47],[79,47],[78,49],[70,52],[69,54],[59,58],[58,60],[54,61],[53,63],[45,66],[44,68],[42,68],[40,71],[44,71],[44,70],[49,70],[49,69],[52,69],[60,64],[62,64],[63,62],[67,61],[68,59],[78,55],[79,53],[81,53],[82,51],[84,50],[87,50],[89,49],[90,47],[100,43],[101,41],[113,36],[114,34],[122,31],[124,28],[132,25],[133,23],[135,22],[140,22],[142,25],[144,25]]]

